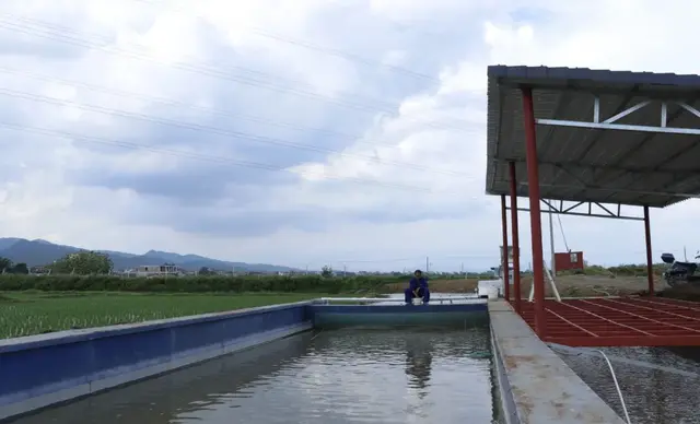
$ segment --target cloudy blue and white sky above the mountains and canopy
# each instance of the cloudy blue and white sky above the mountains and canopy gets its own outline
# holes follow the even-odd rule
[[[700,73],[695,9],[4,0],[0,236],[310,269],[487,269],[502,240],[500,199],[485,195],[487,67]],[[700,249],[698,211],[652,210],[655,259]],[[561,216],[555,244],[591,263],[645,259],[638,221]]]

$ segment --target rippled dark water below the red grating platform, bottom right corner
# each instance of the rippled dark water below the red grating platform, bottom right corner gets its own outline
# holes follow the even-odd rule
[[[634,424],[700,424],[700,350],[696,348],[605,348]],[[567,350],[565,352],[571,352]],[[557,351],[612,407],[622,408],[602,356]]]

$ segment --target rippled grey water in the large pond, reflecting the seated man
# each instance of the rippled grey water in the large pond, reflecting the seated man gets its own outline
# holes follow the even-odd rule
[[[488,329],[301,334],[18,424],[492,423]]]

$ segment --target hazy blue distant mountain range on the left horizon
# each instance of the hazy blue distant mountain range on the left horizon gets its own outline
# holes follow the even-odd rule
[[[82,249],[73,246],[55,245],[52,243],[24,238],[0,238],[0,257],[11,259],[13,262],[25,262],[30,267],[43,266],[54,262],[68,254],[74,254]],[[202,267],[213,270],[245,270],[255,272],[285,272],[293,268],[280,267],[267,263],[230,262],[224,260],[206,258],[199,255],[178,255],[167,251],[149,250],[143,255],[135,255],[114,250],[97,250],[109,255],[116,270],[132,269],[139,266],[160,266],[165,262],[175,263],[186,270],[196,271]]]

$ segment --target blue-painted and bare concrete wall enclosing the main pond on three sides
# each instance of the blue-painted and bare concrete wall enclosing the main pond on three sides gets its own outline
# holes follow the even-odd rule
[[[490,325],[508,424],[622,421],[503,301],[358,306],[300,302],[0,341],[0,421],[337,325]]]

